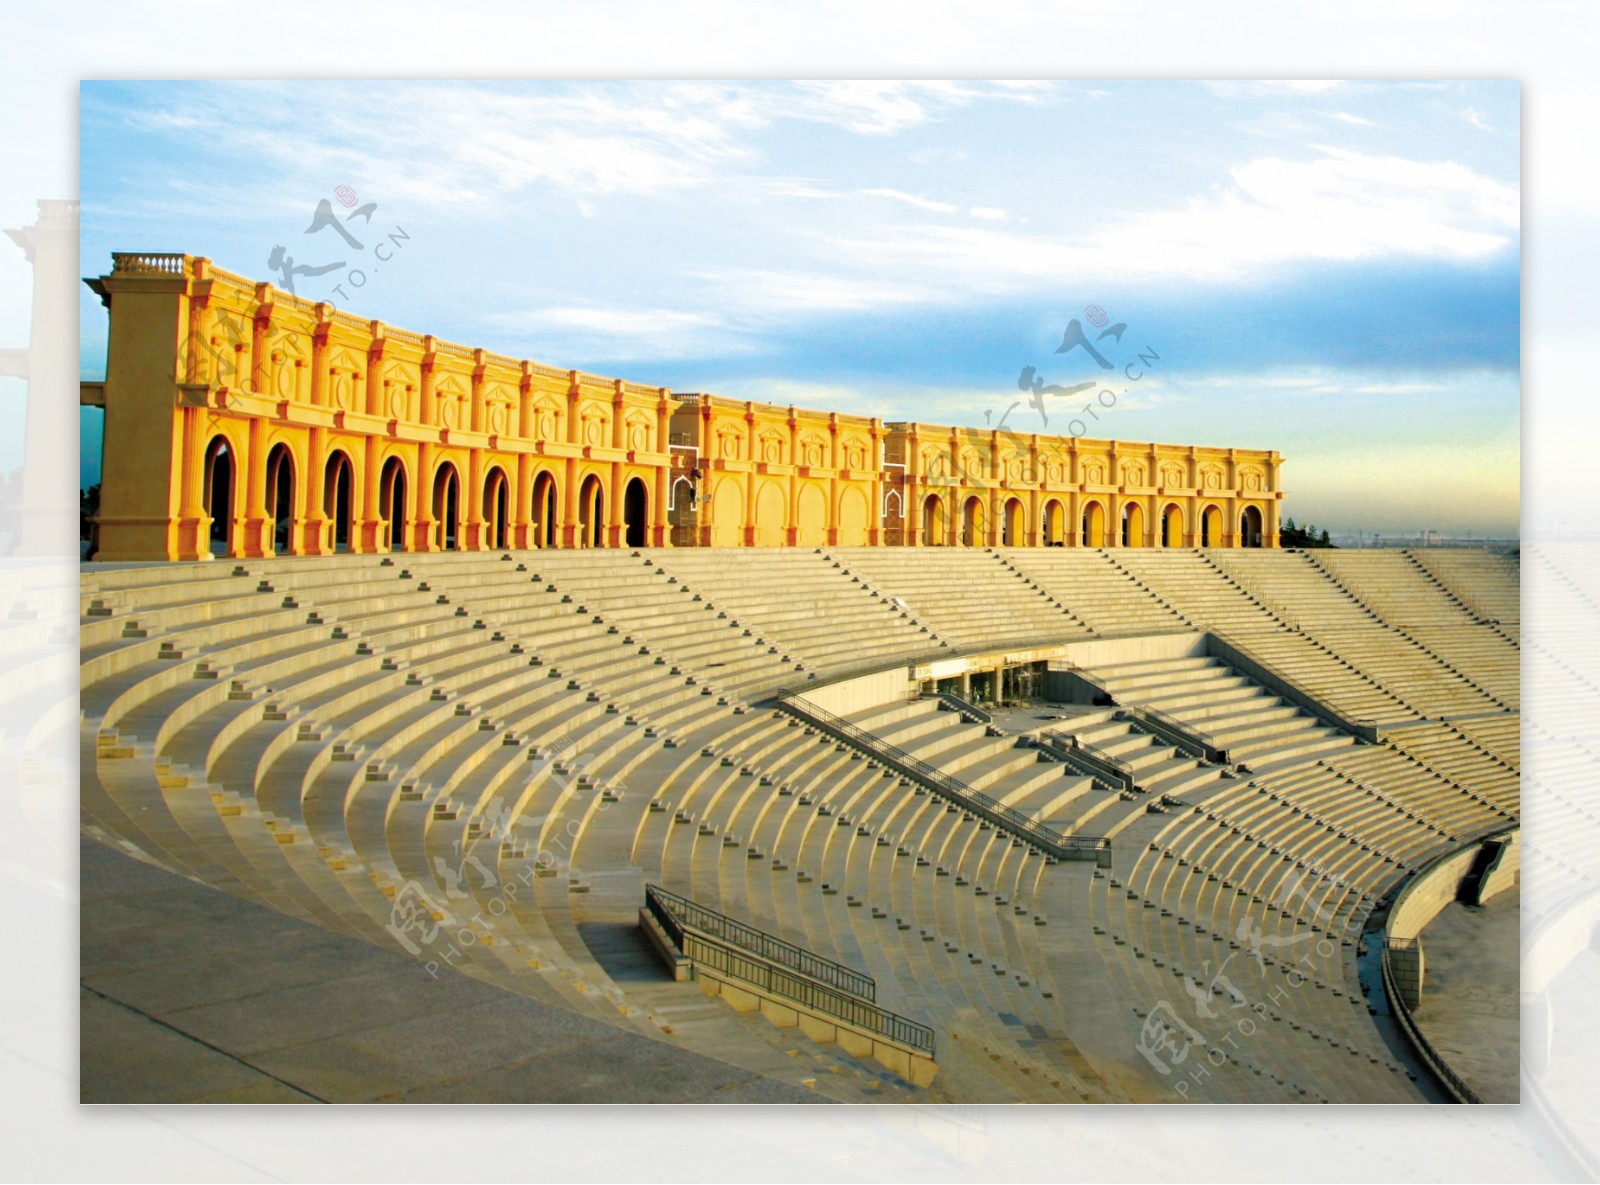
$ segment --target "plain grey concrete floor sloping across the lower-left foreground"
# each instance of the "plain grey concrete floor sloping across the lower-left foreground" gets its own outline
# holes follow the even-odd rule
[[[80,1102],[827,1102],[80,843]]]

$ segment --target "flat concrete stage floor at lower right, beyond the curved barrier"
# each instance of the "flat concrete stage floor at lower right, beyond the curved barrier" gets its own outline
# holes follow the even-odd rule
[[[1522,886],[1482,908],[1446,905],[1422,953],[1422,1033],[1483,1102],[1520,1102]]]

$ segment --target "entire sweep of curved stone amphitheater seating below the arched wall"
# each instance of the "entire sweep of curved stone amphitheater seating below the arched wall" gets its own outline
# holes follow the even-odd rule
[[[114,315],[107,499],[117,366]],[[1154,480],[1106,547],[997,499],[966,547],[635,547],[613,512],[286,555],[242,489],[211,529],[195,488],[214,558],[82,569],[96,843],[774,1097],[1472,1097],[1397,920],[1440,868],[1515,876],[1515,555],[1198,539],[1202,483],[1162,536]]]

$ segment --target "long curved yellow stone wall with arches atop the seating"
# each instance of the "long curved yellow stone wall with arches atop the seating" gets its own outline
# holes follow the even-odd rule
[[[83,384],[106,408],[99,560],[1277,545],[1277,453],[674,395],[395,329],[194,256],[117,254],[88,285],[110,310],[106,381]]]

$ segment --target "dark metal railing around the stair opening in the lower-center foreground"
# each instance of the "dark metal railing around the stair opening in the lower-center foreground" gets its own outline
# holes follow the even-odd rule
[[[672,945],[675,945],[691,963],[718,971],[730,979],[738,979],[774,996],[790,999],[811,1012],[821,1012],[822,1015],[843,1020],[854,1028],[875,1033],[886,1041],[893,1041],[894,1044],[923,1051],[930,1057],[933,1055],[934,1043],[931,1027],[912,1020],[910,1017],[904,1017],[899,1012],[891,1012],[890,1009],[878,1006],[870,996],[864,998],[850,990],[830,987],[829,984],[813,979],[810,974],[798,974],[789,966],[773,963],[771,960],[723,937],[723,934],[699,929],[694,921],[694,918],[714,918],[720,923],[731,923],[731,918],[725,918],[714,910],[707,910],[691,900],[678,897],[677,894],[670,894],[656,884],[645,886],[645,908],[648,908],[650,916],[661,924],[662,931],[672,940]],[[685,912],[683,916],[678,915],[678,910]],[[733,926],[747,931],[750,929],[742,926],[742,923],[733,923]],[[840,968],[837,963],[811,955],[811,952],[800,950],[798,947],[786,944],[781,939],[773,939],[770,934],[762,934],[760,931],[752,932],[760,934],[763,939],[768,939],[779,947],[789,947],[790,950],[798,952],[810,961],[814,961],[816,966],[846,971],[850,976],[872,985],[872,979],[867,976],[851,972],[848,968]]]

